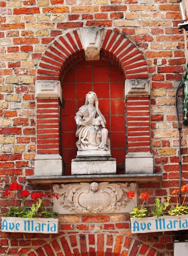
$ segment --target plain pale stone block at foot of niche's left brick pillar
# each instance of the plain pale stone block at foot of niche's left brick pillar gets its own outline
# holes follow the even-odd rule
[[[34,158],[34,175],[63,175],[62,157],[59,154],[38,154]]]

